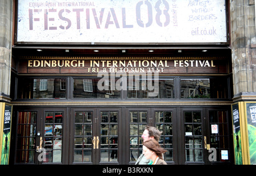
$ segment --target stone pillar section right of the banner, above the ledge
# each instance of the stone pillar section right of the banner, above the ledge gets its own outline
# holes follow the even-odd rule
[[[254,1],[230,0],[234,101],[256,99]]]

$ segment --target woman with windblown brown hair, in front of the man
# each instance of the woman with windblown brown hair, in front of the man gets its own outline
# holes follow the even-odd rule
[[[151,159],[148,165],[167,165],[163,160],[163,153],[167,152],[160,148],[158,141],[150,139],[143,143],[143,154],[147,159]]]

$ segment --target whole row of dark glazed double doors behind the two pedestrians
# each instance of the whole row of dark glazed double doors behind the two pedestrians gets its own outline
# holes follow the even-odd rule
[[[229,112],[229,106],[15,107],[13,162],[132,165],[150,125],[163,132],[168,164],[230,163]]]

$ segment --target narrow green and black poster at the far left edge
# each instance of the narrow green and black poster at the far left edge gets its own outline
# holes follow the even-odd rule
[[[8,165],[10,139],[11,139],[11,106],[8,104],[5,104],[3,118],[4,119],[3,119],[3,141],[2,141],[1,165]]]

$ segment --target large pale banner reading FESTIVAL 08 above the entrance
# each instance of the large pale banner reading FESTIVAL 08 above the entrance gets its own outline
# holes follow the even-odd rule
[[[16,43],[227,43],[225,0],[18,0]]]

